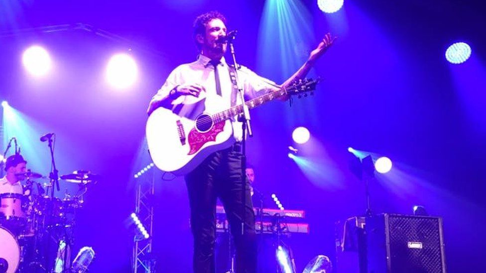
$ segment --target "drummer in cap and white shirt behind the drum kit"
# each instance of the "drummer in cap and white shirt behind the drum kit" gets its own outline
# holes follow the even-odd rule
[[[5,177],[0,179],[0,194],[1,193],[19,193],[23,194],[22,185],[20,181],[24,176],[18,174],[25,173],[27,161],[21,155],[9,156],[5,161]]]

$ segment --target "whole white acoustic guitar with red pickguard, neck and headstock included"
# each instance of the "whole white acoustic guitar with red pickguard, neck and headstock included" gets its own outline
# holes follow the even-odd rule
[[[299,80],[288,88],[266,93],[246,101],[249,109],[286,95],[301,94],[315,89],[318,80]],[[234,143],[230,118],[243,113],[236,105],[217,113],[203,113],[195,119],[159,107],[148,117],[146,134],[150,156],[160,170],[185,175],[194,170],[207,156]]]

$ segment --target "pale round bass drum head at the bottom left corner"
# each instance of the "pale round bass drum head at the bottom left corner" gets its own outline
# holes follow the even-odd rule
[[[15,273],[20,263],[20,247],[17,239],[0,227],[0,272]]]

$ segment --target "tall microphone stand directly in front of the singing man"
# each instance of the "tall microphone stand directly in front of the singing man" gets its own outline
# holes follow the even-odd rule
[[[248,131],[248,136],[252,137],[253,132],[251,130],[250,125],[250,113],[248,109],[248,105],[246,105],[244,101],[244,93],[243,87],[240,84],[238,79],[238,63],[236,61],[236,54],[235,54],[235,47],[233,46],[233,40],[235,39],[235,35],[231,35],[228,39],[228,45],[230,46],[230,53],[233,58],[233,64],[235,65],[235,81],[238,86],[238,93],[240,94],[240,98],[242,101],[243,113],[239,116],[238,120],[242,122],[242,131],[243,131],[243,139],[242,139],[242,235],[244,234],[244,219],[245,219],[245,207],[246,207],[246,131]]]

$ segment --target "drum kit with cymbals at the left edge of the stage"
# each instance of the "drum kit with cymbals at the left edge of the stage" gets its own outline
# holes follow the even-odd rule
[[[25,180],[23,194],[0,193],[0,273],[68,272],[68,249],[74,242],[76,211],[84,195],[99,176],[75,171],[60,176],[66,183],[78,184],[74,196],[54,197],[54,183],[34,172],[16,174]]]

